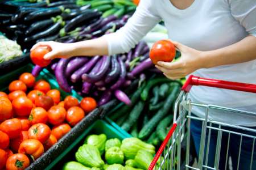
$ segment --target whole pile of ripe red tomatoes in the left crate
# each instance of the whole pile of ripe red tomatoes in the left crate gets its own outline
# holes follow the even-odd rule
[[[91,97],[61,101],[46,80],[23,73],[0,92],[0,169],[25,169],[96,106]]]

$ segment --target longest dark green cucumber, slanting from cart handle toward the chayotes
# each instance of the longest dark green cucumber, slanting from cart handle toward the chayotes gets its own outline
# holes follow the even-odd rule
[[[164,105],[163,108],[160,109],[155,116],[153,116],[150,121],[143,126],[143,128],[141,129],[141,131],[139,132],[139,138],[140,139],[145,139],[147,138],[152,131],[156,128],[156,126],[158,125],[158,123],[162,120],[162,118],[164,118],[164,116],[166,116],[166,114],[168,114],[168,112],[170,112],[170,109],[172,107],[172,103],[175,102],[176,100],[176,95],[180,92],[180,86],[177,83],[172,83],[171,86],[173,86],[172,88],[172,92],[171,94],[167,97],[167,99],[164,101]]]

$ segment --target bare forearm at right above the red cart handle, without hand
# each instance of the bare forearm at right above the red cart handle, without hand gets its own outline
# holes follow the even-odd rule
[[[251,61],[256,59],[256,37],[250,35],[225,48],[202,54],[205,68]]]

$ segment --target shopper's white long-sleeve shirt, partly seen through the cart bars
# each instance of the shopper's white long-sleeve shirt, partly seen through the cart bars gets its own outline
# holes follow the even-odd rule
[[[256,0],[195,0],[184,10],[176,8],[170,0],[141,0],[127,24],[117,32],[106,35],[109,54],[127,52],[160,20],[164,20],[171,40],[197,50],[214,50],[232,45],[248,35],[256,36]],[[199,69],[192,74],[256,84],[256,59]],[[199,86],[192,88],[189,97],[197,103],[256,113],[256,94]],[[192,111],[200,117],[205,114],[203,109],[193,108]],[[256,125],[256,118],[246,118],[243,114],[214,111],[210,117],[238,125]]]

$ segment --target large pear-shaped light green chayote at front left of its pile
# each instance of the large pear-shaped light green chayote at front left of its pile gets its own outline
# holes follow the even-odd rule
[[[84,144],[79,147],[76,152],[77,162],[85,165],[86,167],[101,168],[104,165],[104,161],[101,159],[100,151],[93,145]]]

